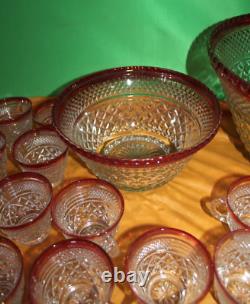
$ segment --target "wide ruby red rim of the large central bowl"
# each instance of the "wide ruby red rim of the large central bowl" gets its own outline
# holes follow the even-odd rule
[[[213,121],[213,128],[210,134],[201,143],[183,151],[175,152],[164,156],[155,156],[152,158],[145,158],[145,159],[119,159],[119,158],[112,158],[95,152],[84,150],[82,147],[75,144],[72,140],[70,140],[67,136],[65,136],[63,132],[61,132],[60,119],[64,107],[64,101],[67,98],[76,94],[76,92],[78,92],[80,89],[86,88],[91,84],[97,84],[112,79],[127,79],[128,77],[131,79],[136,77],[144,77],[144,78],[158,77],[158,79],[161,80],[170,79],[173,81],[183,83],[184,85],[187,85],[193,90],[195,90],[198,94],[204,97],[204,99],[213,109],[214,121]],[[57,130],[57,132],[59,133],[59,135],[74,151],[79,153],[81,156],[86,157],[89,160],[110,166],[142,168],[149,166],[157,166],[161,164],[164,165],[166,163],[182,160],[188,156],[191,156],[196,151],[200,150],[202,147],[208,144],[215,136],[220,125],[221,110],[215,95],[204,84],[202,84],[198,80],[188,75],[173,70],[157,68],[157,67],[131,66],[131,67],[113,68],[109,70],[96,72],[87,75],[85,77],[82,77],[79,80],[73,82],[71,85],[66,87],[66,89],[64,89],[64,91],[60,94],[58,98],[58,102],[56,102],[53,107],[52,118],[53,118],[53,125]]]

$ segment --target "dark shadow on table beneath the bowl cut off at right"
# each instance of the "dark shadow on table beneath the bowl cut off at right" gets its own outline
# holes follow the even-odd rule
[[[244,158],[250,161],[250,153],[246,150],[244,144],[240,140],[240,136],[236,131],[235,124],[232,119],[231,112],[226,103],[221,103],[223,110],[221,128],[228,135],[230,142],[235,146],[235,148],[242,154]]]

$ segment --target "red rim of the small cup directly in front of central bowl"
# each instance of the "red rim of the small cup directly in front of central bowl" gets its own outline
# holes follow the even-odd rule
[[[78,185],[101,185],[101,186],[105,186],[106,189],[109,189],[112,193],[115,193],[116,196],[119,198],[119,205],[120,205],[120,213],[119,216],[117,217],[116,221],[109,227],[107,227],[105,230],[103,230],[102,232],[99,232],[95,235],[80,235],[77,233],[73,233],[73,232],[68,232],[64,227],[62,227],[58,221],[57,221],[57,217],[56,217],[56,208],[57,205],[60,204],[61,200],[61,196],[63,194],[65,194],[68,190],[74,188],[75,186]],[[63,187],[53,198],[52,200],[52,204],[51,204],[51,217],[52,217],[52,223],[54,224],[54,226],[63,234],[73,237],[73,238],[83,238],[86,240],[93,240],[96,237],[101,237],[104,236],[106,234],[108,234],[109,232],[111,232],[115,227],[117,227],[117,225],[119,224],[119,222],[121,221],[121,218],[123,216],[124,213],[124,198],[121,194],[121,192],[112,184],[101,180],[101,179],[95,179],[95,178],[85,178],[85,179],[78,179],[76,181],[71,182],[70,184],[66,185],[65,187]]]

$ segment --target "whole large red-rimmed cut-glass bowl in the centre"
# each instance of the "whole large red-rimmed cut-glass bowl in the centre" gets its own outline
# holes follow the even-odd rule
[[[96,176],[140,191],[171,180],[214,137],[220,108],[189,76],[123,67],[67,87],[53,108],[53,122]]]

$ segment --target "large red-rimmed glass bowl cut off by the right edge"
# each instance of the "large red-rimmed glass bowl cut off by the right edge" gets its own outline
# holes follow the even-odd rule
[[[210,58],[226,94],[237,131],[250,152],[250,14],[220,23]]]

